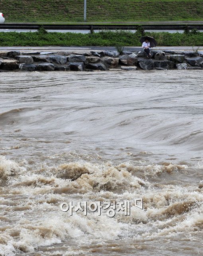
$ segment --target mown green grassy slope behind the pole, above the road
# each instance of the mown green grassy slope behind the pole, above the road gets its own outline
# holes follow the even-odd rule
[[[6,22],[82,22],[84,0],[1,0]],[[203,20],[202,0],[87,0],[87,21]]]

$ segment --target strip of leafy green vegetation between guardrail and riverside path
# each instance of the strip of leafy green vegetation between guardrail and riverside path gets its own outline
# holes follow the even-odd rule
[[[144,35],[152,36],[159,46],[202,45],[203,32],[168,33],[151,32]],[[102,31],[93,34],[82,33],[46,33],[38,32],[0,32],[0,46],[45,46],[45,45],[98,45],[98,46],[141,46],[140,32]],[[121,48],[122,49],[122,48]]]

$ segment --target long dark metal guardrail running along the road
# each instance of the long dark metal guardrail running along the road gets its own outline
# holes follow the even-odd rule
[[[139,25],[65,25],[65,24],[0,24],[0,29],[5,30],[38,30],[41,26],[45,30],[136,30]],[[203,24],[148,24],[142,25],[144,30],[203,30]]]

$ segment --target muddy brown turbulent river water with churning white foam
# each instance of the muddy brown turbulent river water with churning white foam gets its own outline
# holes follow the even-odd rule
[[[202,255],[202,71],[1,73],[0,99],[0,255]]]

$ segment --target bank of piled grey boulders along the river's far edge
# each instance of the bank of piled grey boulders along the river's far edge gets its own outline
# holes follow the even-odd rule
[[[0,72],[5,71],[94,71],[94,70],[203,70],[203,54],[196,51],[0,51]]]

